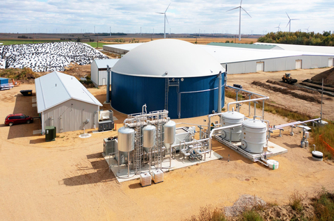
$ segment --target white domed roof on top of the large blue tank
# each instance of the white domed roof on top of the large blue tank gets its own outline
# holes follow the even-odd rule
[[[210,76],[225,72],[216,58],[204,49],[175,39],[141,44],[120,58],[111,70],[118,74],[169,78]]]

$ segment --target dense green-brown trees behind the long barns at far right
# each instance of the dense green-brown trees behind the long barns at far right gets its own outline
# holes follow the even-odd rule
[[[259,38],[257,42],[278,43],[278,44],[302,44],[302,45],[321,45],[334,46],[334,33],[331,31],[323,31],[323,33],[310,33],[296,31],[267,33]]]

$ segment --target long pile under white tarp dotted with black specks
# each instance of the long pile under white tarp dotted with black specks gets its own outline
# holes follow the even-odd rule
[[[70,63],[88,65],[108,58],[81,42],[0,45],[0,68],[29,67],[34,72],[64,71]]]

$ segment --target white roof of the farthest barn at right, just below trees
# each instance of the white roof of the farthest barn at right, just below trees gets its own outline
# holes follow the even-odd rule
[[[316,45],[299,45],[299,44],[274,44],[274,43],[263,43],[256,42],[257,45],[271,45],[277,46],[288,51],[307,51],[321,54],[334,54],[334,47],[331,46],[316,46]],[[276,48],[273,48],[276,49]]]

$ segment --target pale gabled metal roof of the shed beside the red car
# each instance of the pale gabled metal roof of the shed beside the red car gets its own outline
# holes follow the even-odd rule
[[[74,76],[51,72],[35,79],[37,111],[42,113],[70,99],[102,106]]]

